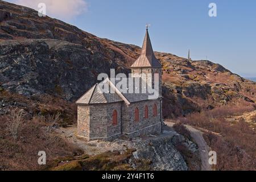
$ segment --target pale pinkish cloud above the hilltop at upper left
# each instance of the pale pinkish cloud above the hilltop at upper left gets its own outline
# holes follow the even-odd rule
[[[39,10],[39,3],[46,4],[46,15],[52,18],[69,20],[84,13],[87,3],[84,0],[15,0],[16,4]]]

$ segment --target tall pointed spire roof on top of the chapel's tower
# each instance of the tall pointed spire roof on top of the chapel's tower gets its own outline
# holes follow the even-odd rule
[[[144,38],[141,56],[131,65],[131,68],[162,68],[159,60],[156,59],[154,51],[152,49],[150,36],[148,30]]]

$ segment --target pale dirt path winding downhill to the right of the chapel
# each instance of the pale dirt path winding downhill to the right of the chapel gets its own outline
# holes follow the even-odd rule
[[[166,123],[166,125],[169,127],[173,127],[175,124],[173,122],[164,122],[164,123]],[[193,138],[193,140],[195,140],[195,142],[197,143],[197,145],[199,147],[200,158],[201,158],[201,171],[212,171],[212,168],[210,167],[210,164],[208,162],[209,147],[204,140],[203,132],[201,132],[191,126],[188,126],[188,125],[185,125],[185,126],[190,131],[191,137]]]

